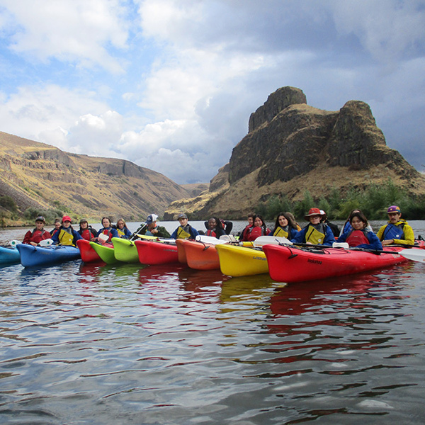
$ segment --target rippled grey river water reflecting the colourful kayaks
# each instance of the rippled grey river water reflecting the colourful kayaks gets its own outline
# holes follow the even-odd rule
[[[0,268],[0,423],[424,424],[424,272]]]

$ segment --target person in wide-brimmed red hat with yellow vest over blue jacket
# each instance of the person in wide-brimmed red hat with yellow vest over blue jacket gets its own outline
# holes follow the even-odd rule
[[[328,245],[331,246],[335,242],[334,234],[331,228],[325,223],[320,222],[322,214],[319,208],[310,208],[308,214],[304,216],[305,220],[310,223],[298,232],[291,242],[295,244],[309,245]]]

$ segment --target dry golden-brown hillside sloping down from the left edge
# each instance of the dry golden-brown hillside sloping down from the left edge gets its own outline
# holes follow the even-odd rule
[[[0,171],[0,196],[12,198],[18,208],[11,216],[1,208],[5,225],[26,222],[23,213],[28,208],[60,210],[94,221],[103,215],[145,220],[190,196],[166,176],[132,162],[70,154],[4,132]]]

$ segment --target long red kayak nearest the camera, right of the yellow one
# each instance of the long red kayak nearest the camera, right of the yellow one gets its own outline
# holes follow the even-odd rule
[[[271,278],[287,283],[345,276],[408,261],[397,254],[401,247],[385,247],[385,251],[379,254],[331,247],[306,249],[279,245],[264,245],[263,250]]]

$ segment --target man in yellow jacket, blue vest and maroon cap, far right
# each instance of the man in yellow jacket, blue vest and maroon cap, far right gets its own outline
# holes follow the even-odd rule
[[[387,214],[390,220],[377,233],[382,245],[414,245],[413,229],[402,218],[402,211],[397,205],[388,207]]]

